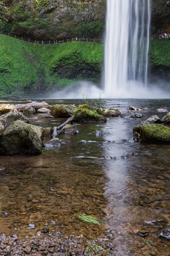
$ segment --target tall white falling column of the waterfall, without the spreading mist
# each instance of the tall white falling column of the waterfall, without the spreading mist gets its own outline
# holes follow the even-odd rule
[[[107,0],[105,94],[146,87],[150,0]],[[136,87],[137,90],[137,87]]]

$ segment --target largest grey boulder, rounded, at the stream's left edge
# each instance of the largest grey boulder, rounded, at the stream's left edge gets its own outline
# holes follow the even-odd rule
[[[0,139],[2,155],[36,155],[42,151],[41,127],[17,120],[4,132]]]

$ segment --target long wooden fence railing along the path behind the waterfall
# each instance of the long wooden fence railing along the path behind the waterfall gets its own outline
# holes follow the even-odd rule
[[[10,33],[6,33],[3,32],[3,30],[0,30],[0,35],[8,35],[10,37],[13,38],[17,38],[23,41],[26,41],[28,43],[34,43],[34,44],[63,44],[63,43],[68,43],[68,42],[72,42],[72,41],[81,41],[81,42],[94,42],[94,43],[104,43],[105,39],[100,38],[100,39],[89,39],[89,38],[71,38],[71,39],[65,39],[65,40],[49,40],[49,41],[43,41],[43,40],[31,40],[31,39],[26,39],[23,37],[19,37],[17,35],[12,35]],[[143,38],[138,38],[143,39],[143,40],[147,40],[147,37],[143,37]],[[160,35],[153,35],[149,37],[150,40],[156,40],[156,39],[170,39],[170,38],[161,38]]]

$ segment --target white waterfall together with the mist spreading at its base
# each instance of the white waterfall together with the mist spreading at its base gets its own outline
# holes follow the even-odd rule
[[[52,96],[56,99],[164,99],[164,81],[149,84],[148,50],[150,0],[107,0],[105,72],[103,89],[79,81]]]

